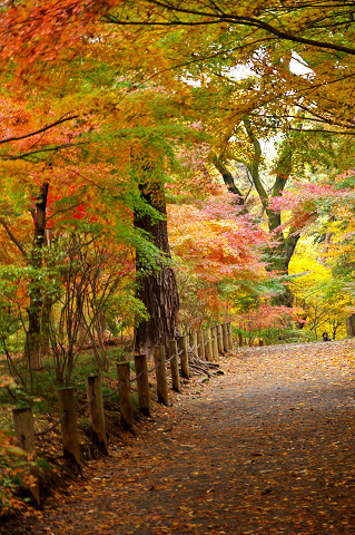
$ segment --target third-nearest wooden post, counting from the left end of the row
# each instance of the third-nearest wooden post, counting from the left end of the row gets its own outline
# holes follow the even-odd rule
[[[89,421],[92,429],[92,435],[100,451],[105,455],[108,455],[100,376],[87,377],[88,401],[92,398],[92,396],[93,399],[89,405]]]

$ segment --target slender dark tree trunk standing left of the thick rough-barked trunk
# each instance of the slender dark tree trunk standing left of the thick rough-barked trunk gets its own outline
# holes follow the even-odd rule
[[[30,304],[28,308],[28,331],[26,338],[26,356],[31,370],[41,368],[40,335],[41,335],[41,310],[42,291],[40,280],[37,276],[42,268],[42,247],[46,231],[46,207],[48,195],[48,183],[42,184],[36,200],[36,208],[32,213],[34,223],[33,246],[30,257],[31,268],[34,274],[30,283]]]

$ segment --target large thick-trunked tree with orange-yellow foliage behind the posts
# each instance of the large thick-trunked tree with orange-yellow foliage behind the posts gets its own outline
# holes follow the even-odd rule
[[[23,6],[23,13],[24,10]],[[146,322],[146,324],[138,325],[137,343],[141,348],[151,347],[154,343],[161,343],[168,338],[176,337],[178,329],[178,295],[171,261],[169,261],[164,183],[166,174],[169,172],[169,162],[174,160],[172,144],[180,143],[178,139],[183,137],[183,130],[177,129],[177,125],[174,124],[174,114],[179,99],[184,97],[178,95],[170,98],[169,95],[174,95],[178,86],[168,76],[160,77],[161,86],[157,85],[157,81],[142,82],[141,56],[136,56],[131,51],[131,57],[128,59],[126,52],[119,48],[115,55],[111,55],[114,42],[117,41],[121,46],[120,39],[122,38],[121,36],[117,37],[115,31],[110,30],[105,37],[107,43],[102,45],[100,40],[92,40],[86,42],[82,50],[76,50],[75,57],[80,56],[81,58],[80,74],[76,71],[77,65],[73,60],[66,64],[65,70],[68,77],[61,79],[63,75],[61,70],[63,66],[61,62],[62,45],[58,46],[58,54],[55,54],[55,59],[49,65],[43,62],[51,39],[48,37],[47,42],[47,30],[43,30],[46,20],[49,25],[52,23],[52,18],[58,17],[59,11],[48,9],[45,14],[41,13],[37,26],[31,28],[32,31],[38,32],[43,48],[42,54],[37,57],[37,62],[33,64],[33,69],[26,74],[21,70],[21,61],[27,57],[29,50],[22,47],[22,41],[16,43],[19,47],[18,69],[26,79],[30,79],[39,76],[38,69],[43,67],[43,72],[40,74],[41,80],[45,80],[48,75],[51,76],[50,84],[46,80],[46,91],[52,91],[51,98],[55,99],[55,103],[57,103],[56,98],[59,98],[61,108],[69,105],[71,110],[78,109],[77,106],[79,106],[72,100],[72,94],[83,82],[78,93],[81,106],[78,117],[80,124],[85,125],[85,132],[77,135],[68,130],[71,143],[62,147],[58,147],[56,144],[45,147],[45,142],[41,139],[43,148],[36,156],[40,159],[42,153],[52,150],[57,155],[60,149],[75,146],[71,152],[61,152],[62,158],[59,158],[60,164],[58,165],[62,165],[67,172],[70,169],[71,177],[77,174],[76,185],[80,184],[80,181],[89,183],[91,193],[96,189],[93,195],[102,197],[105,191],[105,205],[112,198],[117,203],[117,198],[122,198],[125,192],[131,188],[130,198],[127,197],[125,204],[128,214],[135,214],[135,228],[139,231],[136,237],[129,234],[132,237],[131,244],[136,247],[137,255],[137,295],[141,296],[150,313],[149,324]],[[10,10],[8,14],[10,19],[13,17],[13,23],[16,23],[19,12]],[[76,14],[72,16],[77,20]],[[31,19],[31,16],[29,17]],[[87,31],[89,31],[89,26]],[[100,30],[103,33],[106,31],[102,27]],[[24,38],[26,31],[23,29],[22,38]],[[58,39],[60,40],[59,36]],[[76,42],[76,38],[72,37],[73,48]],[[138,46],[144,49],[147,41],[142,41]],[[157,60],[165,61],[164,50],[155,49],[154,39],[150,39],[150,47],[152,57],[146,60],[147,72],[155,68]],[[110,69],[115,68],[114,66],[120,57],[125,57],[125,65],[120,68],[121,78],[117,78],[117,72],[112,77]],[[93,81],[91,71],[96,67],[99,68],[100,75],[99,79]],[[17,72],[14,66],[14,78]],[[115,91],[112,91],[112,85]],[[183,95],[184,91],[183,85]],[[161,128],[160,137],[159,128]],[[167,135],[169,138],[162,143]],[[105,149],[102,149],[103,145]],[[100,148],[98,148],[99,146]],[[88,153],[88,147],[90,147],[90,153]],[[117,158],[118,153],[120,158]],[[21,152],[11,156],[12,159],[30,157],[34,157],[34,155]],[[98,162],[100,163],[98,164]],[[55,164],[51,162],[51,165]],[[93,178],[91,173],[98,167],[100,167],[99,175]],[[105,176],[105,174],[107,175]],[[90,204],[88,212],[92,216],[97,216],[96,210]],[[120,211],[117,215],[115,208],[110,212],[114,218],[117,215],[120,216]],[[157,310],[155,309],[156,303],[159,303]]]

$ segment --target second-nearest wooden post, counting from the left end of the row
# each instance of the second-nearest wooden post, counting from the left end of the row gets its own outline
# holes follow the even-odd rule
[[[67,412],[61,421],[62,450],[65,457],[68,457],[81,471],[80,446],[77,427],[77,396],[75,387],[59,388],[60,414]]]

